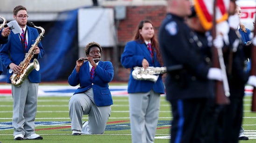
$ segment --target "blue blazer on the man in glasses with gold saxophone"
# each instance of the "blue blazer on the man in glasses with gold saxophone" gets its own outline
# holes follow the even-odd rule
[[[39,34],[36,28],[29,27],[29,26],[27,26],[27,33],[28,33],[28,48],[26,50],[28,52],[31,45],[34,44],[32,43],[32,40],[35,41]],[[41,42],[39,42],[37,46],[40,48],[40,53],[38,55],[34,55],[31,62],[33,61],[34,58],[40,59],[44,55],[44,50]],[[1,45],[0,55],[2,58],[3,64],[7,68],[7,83],[11,83],[10,76],[13,74],[13,72],[10,70],[9,65],[11,63],[19,65],[25,58],[25,53],[23,50],[23,46],[21,44],[19,33],[14,34],[14,32],[11,31],[9,35],[9,41],[6,44]],[[31,71],[28,74],[28,79],[32,83],[40,83],[41,82],[40,70],[36,71],[34,69],[33,71]]]

